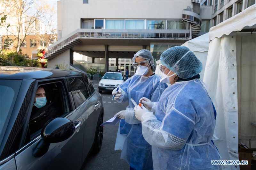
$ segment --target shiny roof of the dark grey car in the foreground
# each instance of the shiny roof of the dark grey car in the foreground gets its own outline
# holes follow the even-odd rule
[[[48,69],[40,67],[0,66],[0,79],[45,79],[79,75],[82,75],[82,73],[74,70]]]

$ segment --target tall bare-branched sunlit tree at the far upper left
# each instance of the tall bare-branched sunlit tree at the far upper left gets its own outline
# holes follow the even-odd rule
[[[15,37],[12,46],[16,52],[21,52],[21,45],[26,40],[27,35],[37,29],[36,21],[41,18],[42,11],[33,8],[34,0],[1,0],[4,15],[7,17],[4,28],[8,35]]]

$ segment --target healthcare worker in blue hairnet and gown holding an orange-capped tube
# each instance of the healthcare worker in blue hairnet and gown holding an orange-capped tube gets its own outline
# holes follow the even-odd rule
[[[158,103],[142,98],[142,106],[134,107],[143,137],[152,145],[154,169],[221,169],[211,164],[220,154],[212,140],[216,111],[199,80],[202,63],[183,46],[167,49],[160,61],[161,82],[171,86]]]

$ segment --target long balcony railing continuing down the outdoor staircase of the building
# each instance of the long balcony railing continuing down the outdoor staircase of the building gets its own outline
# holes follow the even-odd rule
[[[63,47],[77,38],[97,39],[189,39],[190,30],[116,30],[78,29],[49,47],[48,53]]]

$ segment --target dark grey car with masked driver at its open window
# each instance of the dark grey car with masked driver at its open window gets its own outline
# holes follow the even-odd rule
[[[80,169],[100,151],[102,99],[84,73],[0,66],[0,107],[0,170]]]

